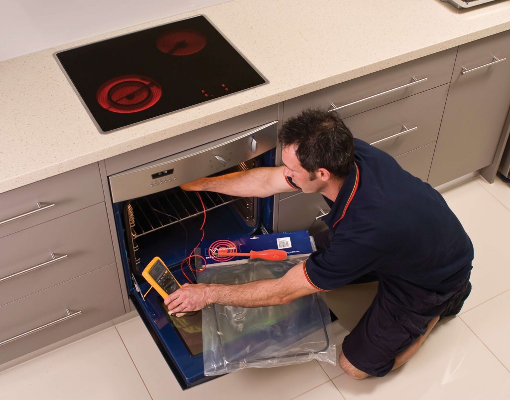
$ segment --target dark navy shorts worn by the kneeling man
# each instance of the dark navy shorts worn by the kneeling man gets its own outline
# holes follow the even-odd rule
[[[317,248],[327,247],[328,232],[314,237]],[[395,277],[364,275],[351,284],[379,281],[377,294],[369,309],[346,336],[342,351],[359,370],[374,377],[390,372],[395,357],[423,335],[430,320],[457,314],[471,291],[469,271],[466,279],[449,293],[436,293]]]

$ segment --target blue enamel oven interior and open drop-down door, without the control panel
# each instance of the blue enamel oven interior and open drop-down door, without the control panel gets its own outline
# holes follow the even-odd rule
[[[274,166],[274,162],[272,149],[223,173]],[[204,241],[272,231],[272,197],[234,198],[211,192],[200,192],[200,197],[206,208]],[[181,318],[169,316],[163,299],[156,290],[149,291],[141,276],[150,260],[159,256],[182,285],[187,283],[181,264],[202,236],[204,217],[198,196],[175,187],[114,203],[114,214],[127,291],[169,367],[183,389],[212,379],[203,374],[201,312]],[[191,266],[199,269],[193,260],[199,259],[191,261]],[[187,263],[183,269],[195,281]]]

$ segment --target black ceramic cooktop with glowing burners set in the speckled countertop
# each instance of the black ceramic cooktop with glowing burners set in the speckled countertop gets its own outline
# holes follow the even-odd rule
[[[266,82],[202,15],[56,57],[103,132]]]

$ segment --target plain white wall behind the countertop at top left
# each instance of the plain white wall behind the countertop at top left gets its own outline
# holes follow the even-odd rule
[[[0,61],[225,0],[0,0]]]

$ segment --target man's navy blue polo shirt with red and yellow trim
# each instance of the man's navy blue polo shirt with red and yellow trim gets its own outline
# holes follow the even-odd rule
[[[447,293],[468,276],[473,246],[443,197],[387,153],[354,139],[354,165],[324,218],[329,248],[303,264],[330,290],[366,273]]]

